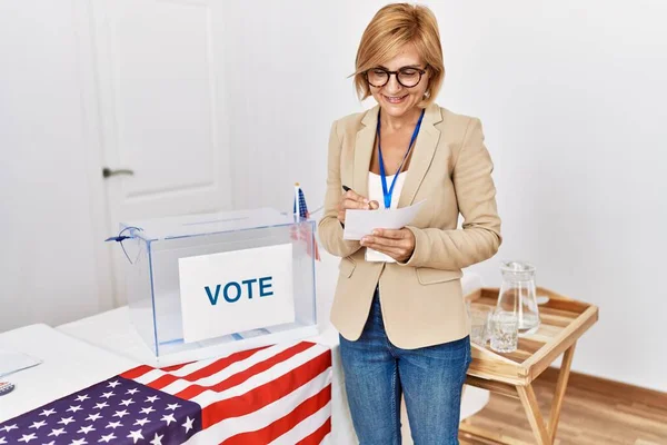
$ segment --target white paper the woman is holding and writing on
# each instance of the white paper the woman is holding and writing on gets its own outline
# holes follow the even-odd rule
[[[342,239],[359,240],[374,229],[400,229],[409,225],[426,200],[409,207],[380,210],[348,209],[345,214]]]

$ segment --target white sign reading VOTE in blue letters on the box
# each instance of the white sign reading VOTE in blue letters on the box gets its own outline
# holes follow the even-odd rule
[[[179,258],[183,342],[295,322],[292,245]]]

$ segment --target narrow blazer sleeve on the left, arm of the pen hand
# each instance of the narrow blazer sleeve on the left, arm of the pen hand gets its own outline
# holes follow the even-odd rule
[[[338,121],[331,126],[329,136],[329,155],[327,172],[327,192],[325,195],[325,215],[318,224],[318,233],[322,247],[329,254],[347,257],[361,248],[359,241],[342,239],[342,226],[338,220],[338,202],[342,195],[340,179],[340,150],[342,141],[338,135]]]

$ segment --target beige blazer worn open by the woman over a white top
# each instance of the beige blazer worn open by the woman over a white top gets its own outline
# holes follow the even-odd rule
[[[329,139],[323,248],[341,257],[331,322],[349,340],[361,335],[379,283],[389,340],[414,349],[469,334],[461,268],[490,258],[501,243],[494,165],[478,119],[437,105],[426,109],[398,207],[426,199],[408,226],[416,246],[406,264],[367,263],[359,241],[342,239],[341,185],[368,196],[378,107],[334,122]],[[462,215],[462,228],[457,228]]]

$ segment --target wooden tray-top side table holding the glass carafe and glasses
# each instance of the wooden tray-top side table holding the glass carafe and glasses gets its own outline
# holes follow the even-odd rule
[[[471,307],[494,309],[498,300],[498,288],[482,288],[466,296]],[[491,393],[518,398],[526,411],[530,427],[539,445],[552,444],[567,388],[570,365],[577,340],[598,319],[598,308],[577,301],[551,290],[538,287],[538,297],[549,300],[539,306],[540,326],[537,333],[519,338],[518,349],[510,354],[498,354],[488,346],[472,345],[472,363],[468,369],[466,384],[488,389]],[[551,402],[548,423],[540,413],[532,380],[563,356],[556,392]],[[470,425],[464,421],[460,425],[464,434],[491,439],[497,443],[519,444],[521,442],[505,437]]]

